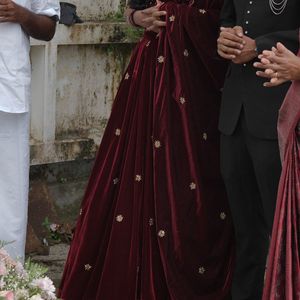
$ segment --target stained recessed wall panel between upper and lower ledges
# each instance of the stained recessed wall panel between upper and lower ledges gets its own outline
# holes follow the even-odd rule
[[[130,50],[127,45],[58,48],[57,140],[81,137],[99,144]]]

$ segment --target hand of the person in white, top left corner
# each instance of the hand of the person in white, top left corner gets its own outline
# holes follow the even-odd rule
[[[28,17],[27,10],[12,0],[0,0],[0,23],[13,22],[22,24]]]

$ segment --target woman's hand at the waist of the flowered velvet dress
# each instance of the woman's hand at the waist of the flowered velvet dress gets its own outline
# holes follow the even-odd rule
[[[159,33],[167,25],[166,21],[162,20],[167,15],[167,12],[160,10],[160,6],[161,3],[158,3],[156,6],[141,11],[143,15],[142,24],[147,31]]]

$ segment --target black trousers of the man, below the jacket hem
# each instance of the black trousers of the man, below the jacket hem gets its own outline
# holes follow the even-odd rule
[[[235,133],[221,137],[221,169],[236,235],[232,299],[260,300],[281,172],[278,141],[252,136],[242,114]]]

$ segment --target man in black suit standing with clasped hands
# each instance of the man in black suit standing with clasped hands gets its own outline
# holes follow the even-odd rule
[[[260,300],[281,172],[278,110],[289,83],[267,89],[253,62],[282,42],[299,48],[300,1],[225,0],[219,55],[231,61],[219,129],[221,168],[236,233],[233,300]]]

